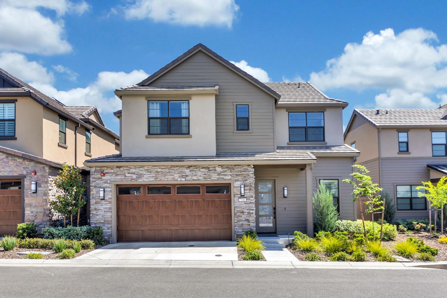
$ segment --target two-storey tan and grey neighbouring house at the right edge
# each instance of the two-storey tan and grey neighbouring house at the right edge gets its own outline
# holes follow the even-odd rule
[[[447,175],[447,106],[439,109],[354,109],[345,143],[362,155],[374,183],[388,192],[395,219],[428,218],[416,187]]]

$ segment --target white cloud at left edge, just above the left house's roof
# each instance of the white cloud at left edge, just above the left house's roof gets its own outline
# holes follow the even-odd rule
[[[0,53],[0,67],[25,82],[52,84],[55,79],[46,67],[36,61],[28,61],[25,55],[19,53]]]

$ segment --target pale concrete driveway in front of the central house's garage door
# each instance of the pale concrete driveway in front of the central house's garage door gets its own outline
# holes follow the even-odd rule
[[[109,244],[81,260],[237,260],[232,241],[133,242]]]

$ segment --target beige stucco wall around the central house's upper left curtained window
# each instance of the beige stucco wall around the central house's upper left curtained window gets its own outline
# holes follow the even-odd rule
[[[215,95],[192,94],[188,96],[190,97],[190,138],[146,138],[148,134],[148,101],[146,97],[143,95],[123,96],[122,155],[215,155],[215,113],[212,112],[215,110]],[[157,98],[160,97],[157,96]],[[172,100],[175,97],[163,97],[163,99]]]

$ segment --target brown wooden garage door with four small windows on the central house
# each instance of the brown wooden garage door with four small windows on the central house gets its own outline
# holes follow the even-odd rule
[[[120,185],[117,241],[231,240],[231,185]]]

